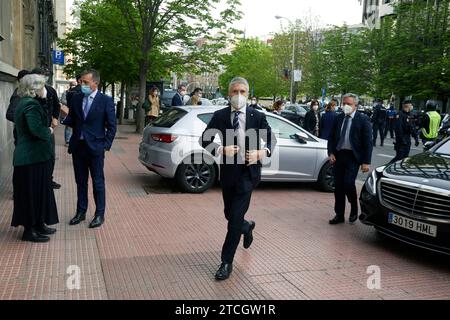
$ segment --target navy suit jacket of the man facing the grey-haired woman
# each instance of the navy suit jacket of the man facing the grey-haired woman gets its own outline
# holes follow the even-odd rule
[[[63,124],[73,128],[72,138],[69,143],[69,153],[73,153],[80,143],[83,133],[91,153],[101,155],[105,150],[110,150],[116,135],[116,114],[114,102],[111,97],[97,92],[91,109],[86,119],[83,114],[83,94],[75,94],[72,98],[69,115]]]

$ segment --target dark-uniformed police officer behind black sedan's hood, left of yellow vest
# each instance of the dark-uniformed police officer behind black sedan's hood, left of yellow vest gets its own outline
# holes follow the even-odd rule
[[[413,105],[411,100],[403,102],[403,107],[395,121],[395,158],[389,164],[403,160],[409,156],[411,150],[411,136],[415,140],[415,146],[419,145],[419,137],[411,114]]]

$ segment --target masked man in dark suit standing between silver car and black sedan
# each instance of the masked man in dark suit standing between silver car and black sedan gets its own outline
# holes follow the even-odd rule
[[[333,123],[328,154],[334,164],[335,213],[330,224],[345,221],[345,197],[351,204],[350,223],[358,218],[358,196],[355,180],[358,170],[369,172],[372,160],[372,125],[370,119],[356,111],[358,96],[349,93],[343,98],[344,113],[336,117]]]

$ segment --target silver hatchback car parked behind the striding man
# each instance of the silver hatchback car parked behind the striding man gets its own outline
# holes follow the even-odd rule
[[[198,141],[215,111],[223,106],[175,107],[147,126],[139,147],[139,161],[162,177],[176,179],[184,192],[202,193],[219,177],[220,156],[212,156]],[[289,120],[265,111],[277,137],[272,157],[263,162],[262,181],[316,182],[334,190],[333,167],[327,142]],[[193,157],[207,161],[189,161]],[[198,157],[197,157],[198,158]]]

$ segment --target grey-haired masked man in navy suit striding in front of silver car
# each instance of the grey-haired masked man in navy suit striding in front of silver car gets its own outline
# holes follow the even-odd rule
[[[253,241],[254,221],[246,221],[253,189],[261,181],[261,160],[270,157],[276,138],[264,113],[247,106],[249,85],[235,78],[229,86],[231,105],[214,113],[200,138],[200,144],[213,156],[222,155],[220,182],[228,233],[222,248],[222,264],[217,280],[227,279],[233,270],[233,259],[244,235],[244,248]],[[216,134],[221,144],[214,143]],[[261,139],[266,148],[261,148]]]

